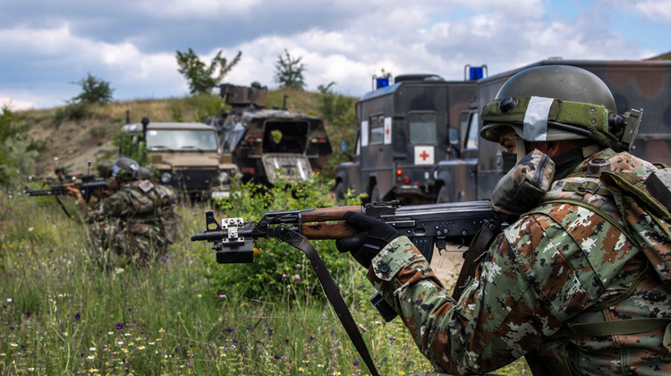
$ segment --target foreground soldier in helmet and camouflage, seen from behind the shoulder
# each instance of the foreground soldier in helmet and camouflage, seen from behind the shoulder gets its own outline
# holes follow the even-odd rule
[[[456,299],[382,221],[347,213],[361,233],[338,249],[369,268],[438,372],[527,356],[534,375],[671,373],[671,217],[641,184],[657,167],[621,151],[607,86],[580,68],[532,68],[481,118],[483,138],[512,128],[524,157],[492,196],[510,226]]]

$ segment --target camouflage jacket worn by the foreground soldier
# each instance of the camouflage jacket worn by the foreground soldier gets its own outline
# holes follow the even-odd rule
[[[655,169],[612,150],[592,158],[643,177]],[[587,162],[574,172],[584,172]],[[586,179],[595,189],[565,190]],[[615,221],[562,200],[541,202],[497,235],[459,301],[405,236],[378,253],[368,278],[437,371],[489,372],[535,352],[554,374],[671,373],[667,322],[606,336],[589,335],[589,325],[569,325],[671,317],[671,291],[614,225],[624,220],[614,197],[599,186],[599,178],[570,175],[552,184],[544,200],[589,201]],[[668,241],[660,242],[668,252]]]

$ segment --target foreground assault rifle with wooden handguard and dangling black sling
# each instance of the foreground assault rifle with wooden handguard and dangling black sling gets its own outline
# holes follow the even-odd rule
[[[470,244],[483,226],[496,232],[501,224],[491,211],[489,201],[440,203],[400,206],[399,201],[372,202],[365,206],[269,211],[259,222],[245,222],[242,218],[223,218],[217,222],[212,210],[205,213],[206,231],[192,235],[191,241],[213,243],[219,263],[254,261],[254,243],[260,238],[277,238],[298,248],[310,259],[329,302],[333,305],[344,329],[364,363],[373,375],[378,375],[361,333],[344,303],[333,278],[321,261],[309,239],[340,239],[359,230],[344,222],[344,213],[354,211],[379,218],[408,236],[427,261],[431,261],[434,247],[446,250],[446,244]],[[370,298],[385,320],[395,317],[393,309],[381,295]]]

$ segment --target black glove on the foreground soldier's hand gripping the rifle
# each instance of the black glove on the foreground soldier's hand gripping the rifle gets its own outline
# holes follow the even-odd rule
[[[348,211],[344,213],[344,220],[352,227],[361,230],[360,233],[344,237],[335,241],[335,248],[340,252],[350,252],[354,260],[364,268],[370,268],[373,260],[386,244],[401,236],[396,229],[378,218],[371,218],[363,214]]]

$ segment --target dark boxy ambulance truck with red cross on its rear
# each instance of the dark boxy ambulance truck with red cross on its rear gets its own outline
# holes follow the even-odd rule
[[[377,82],[377,81],[376,81]],[[378,85],[356,103],[359,124],[352,160],[338,165],[335,198],[365,193],[368,201],[436,201],[430,179],[438,160],[455,152],[448,132],[465,129],[476,79],[445,81],[405,74]]]

